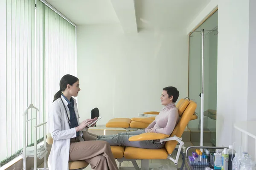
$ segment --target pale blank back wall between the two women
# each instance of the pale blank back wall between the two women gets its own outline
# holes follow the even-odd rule
[[[78,26],[77,74],[79,114],[99,108],[105,124],[111,118],[137,117],[160,111],[162,88],[188,93],[188,37],[183,31],[123,34],[119,26]]]

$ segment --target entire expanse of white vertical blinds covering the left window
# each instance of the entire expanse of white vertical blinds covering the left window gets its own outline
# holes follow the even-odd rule
[[[76,76],[76,27],[37,0],[0,1],[0,167],[20,155],[23,111],[40,111],[27,125],[27,145],[34,127],[47,114],[64,74]],[[27,119],[35,117],[29,111]],[[38,140],[43,129],[38,129]]]

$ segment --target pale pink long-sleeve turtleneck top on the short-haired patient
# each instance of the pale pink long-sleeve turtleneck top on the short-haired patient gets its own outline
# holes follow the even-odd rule
[[[175,106],[175,103],[166,105],[160,113],[156,116],[155,120],[145,128],[147,130],[153,128],[155,133],[163,133],[170,135],[174,130],[177,122],[179,120],[178,109]]]

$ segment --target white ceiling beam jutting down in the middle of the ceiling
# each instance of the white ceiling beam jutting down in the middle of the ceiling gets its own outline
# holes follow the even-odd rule
[[[138,33],[134,0],[111,0],[124,33]]]

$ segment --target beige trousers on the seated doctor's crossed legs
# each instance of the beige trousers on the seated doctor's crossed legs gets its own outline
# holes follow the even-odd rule
[[[84,131],[85,141],[76,142],[79,141],[78,138],[71,139],[69,160],[84,160],[94,170],[118,170],[110,144],[105,141],[95,141],[96,136]]]

